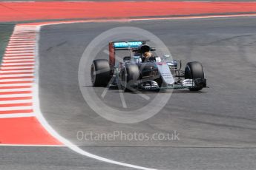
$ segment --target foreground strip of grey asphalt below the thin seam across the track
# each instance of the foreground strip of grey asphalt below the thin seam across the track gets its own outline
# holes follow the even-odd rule
[[[90,147],[83,148],[115,160],[161,170],[255,169],[256,149]],[[130,170],[102,163],[67,148],[1,146],[1,170]]]

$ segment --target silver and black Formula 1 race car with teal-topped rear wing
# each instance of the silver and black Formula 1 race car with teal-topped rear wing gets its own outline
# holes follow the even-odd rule
[[[188,62],[181,70],[181,61],[169,55],[152,56],[145,61],[145,52],[156,49],[147,41],[109,42],[109,61],[97,59],[91,65],[93,86],[118,86],[123,91],[189,89],[200,91],[206,87],[202,64]],[[119,58],[116,51],[128,50],[130,55]]]

